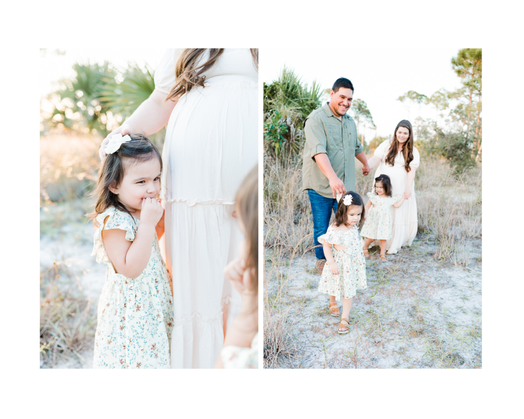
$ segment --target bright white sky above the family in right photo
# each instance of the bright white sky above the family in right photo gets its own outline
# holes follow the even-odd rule
[[[309,85],[318,81],[322,89],[331,89],[339,77],[350,79],[355,87],[353,100],[367,103],[377,135],[387,136],[402,119],[411,123],[419,115],[435,119],[433,107],[422,105],[419,110],[412,105],[408,110],[397,98],[409,90],[431,96],[441,88],[453,91],[460,87],[461,79],[451,67],[451,58],[460,49],[264,48],[263,81],[277,79],[284,65]],[[366,129],[364,133],[366,142],[375,136],[375,130]]]

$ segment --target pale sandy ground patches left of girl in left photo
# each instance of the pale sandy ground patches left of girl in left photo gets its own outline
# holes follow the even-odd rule
[[[96,305],[105,281],[106,265],[96,263],[95,256],[90,256],[93,250],[92,224],[68,223],[58,234],[40,237],[40,269],[52,266],[53,261],[65,261],[71,271],[79,278],[80,286],[85,295],[91,299],[92,310]],[[92,368],[93,345],[86,343],[86,349],[78,356],[71,355],[69,360],[61,360],[53,369]],[[40,361],[40,368],[49,368]]]

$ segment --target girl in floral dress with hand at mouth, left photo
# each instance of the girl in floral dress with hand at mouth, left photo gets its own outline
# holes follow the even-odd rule
[[[112,136],[88,216],[91,255],[107,264],[97,310],[93,368],[170,368],[172,294],[163,235],[162,158],[143,135]]]

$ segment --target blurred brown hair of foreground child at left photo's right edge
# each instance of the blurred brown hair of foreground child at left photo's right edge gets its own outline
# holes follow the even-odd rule
[[[246,241],[249,247],[246,260],[246,269],[254,272],[253,283],[258,290],[259,278],[259,230],[258,230],[258,163],[247,174],[238,188],[235,201],[239,217],[246,229]],[[258,307],[256,307],[258,310]]]

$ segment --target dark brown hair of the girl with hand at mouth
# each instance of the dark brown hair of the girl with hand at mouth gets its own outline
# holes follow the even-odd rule
[[[96,196],[97,200],[95,210],[86,216],[92,219],[93,224],[97,227],[99,225],[96,216],[103,213],[108,207],[114,206],[131,215],[127,208],[118,201],[118,195],[109,190],[110,186],[118,188],[121,185],[126,169],[130,165],[157,158],[160,162],[160,171],[162,171],[162,156],[155,145],[142,134],[129,134],[129,137],[131,141],[123,142],[117,151],[106,156],[100,165],[96,188],[89,194],[89,196]]]

